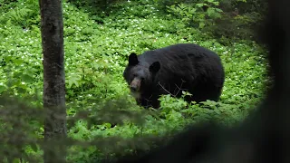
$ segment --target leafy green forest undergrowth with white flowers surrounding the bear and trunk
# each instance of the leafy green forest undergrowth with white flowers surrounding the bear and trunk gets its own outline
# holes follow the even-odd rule
[[[256,37],[265,12],[262,0],[63,0],[67,161],[138,154],[191,123],[244,120],[271,84]],[[0,0],[0,35],[0,160],[42,162],[38,2]],[[218,53],[226,71],[220,101],[163,96],[160,110],[135,104],[122,77],[128,55],[174,43]]]

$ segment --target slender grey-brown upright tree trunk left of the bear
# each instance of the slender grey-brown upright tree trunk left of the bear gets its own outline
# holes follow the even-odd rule
[[[61,0],[39,0],[43,45],[44,163],[65,162],[66,110]]]

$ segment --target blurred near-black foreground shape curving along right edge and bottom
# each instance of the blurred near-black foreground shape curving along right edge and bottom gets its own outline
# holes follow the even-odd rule
[[[195,125],[164,147],[119,162],[289,162],[289,5],[286,0],[269,0],[261,36],[270,50],[268,58],[275,82],[266,100],[247,120],[232,129]]]

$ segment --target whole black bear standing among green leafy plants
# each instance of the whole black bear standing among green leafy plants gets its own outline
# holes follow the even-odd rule
[[[180,97],[182,91],[192,94],[186,101],[218,101],[225,72],[217,53],[178,43],[138,56],[131,53],[123,77],[139,105],[157,109],[161,94]]]

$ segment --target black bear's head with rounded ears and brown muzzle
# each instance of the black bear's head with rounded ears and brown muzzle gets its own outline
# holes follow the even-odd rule
[[[136,53],[131,53],[129,63],[123,77],[130,86],[132,95],[139,99],[140,95],[152,88],[157,72],[160,71],[160,62],[142,62],[138,60]]]

